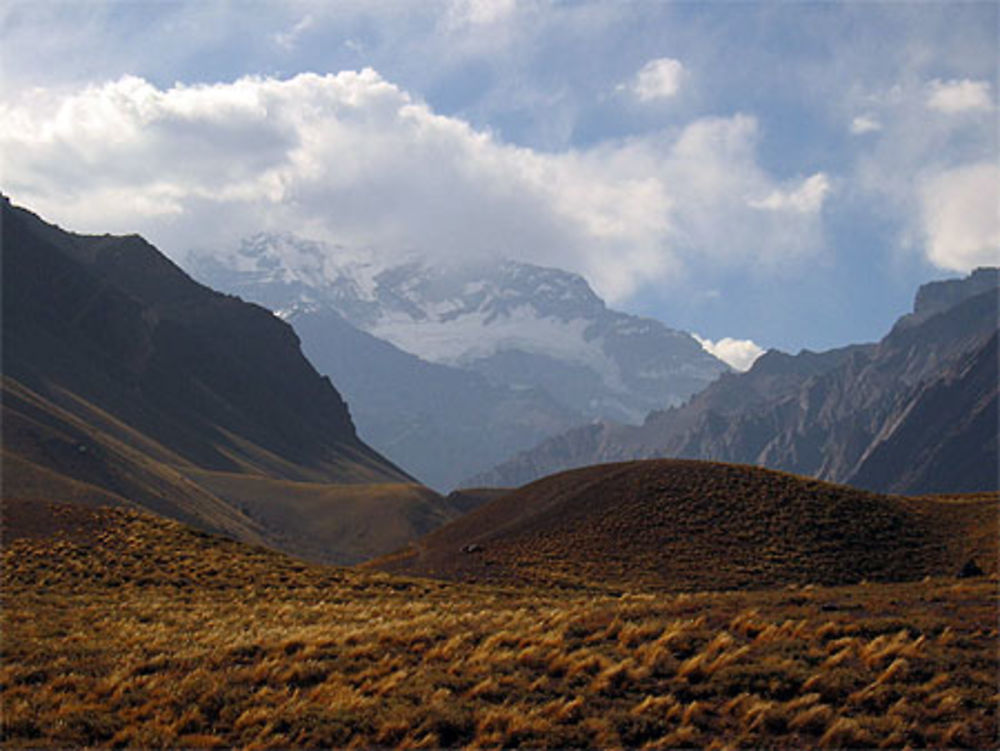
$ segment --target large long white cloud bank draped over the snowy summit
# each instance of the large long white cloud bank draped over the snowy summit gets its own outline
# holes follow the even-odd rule
[[[816,249],[826,178],[782,187],[758,137],[736,115],[539,152],[371,69],[167,89],[126,76],[0,105],[5,190],[74,229],[140,231],[177,258],[260,230],[432,262],[502,256],[578,271],[612,302],[691,264]]]

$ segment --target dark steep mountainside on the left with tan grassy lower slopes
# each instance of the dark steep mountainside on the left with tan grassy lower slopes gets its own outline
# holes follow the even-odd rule
[[[454,515],[358,438],[288,324],[138,236],[0,204],[5,499],[135,504],[342,562]]]

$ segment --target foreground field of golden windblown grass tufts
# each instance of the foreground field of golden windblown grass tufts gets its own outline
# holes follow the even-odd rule
[[[8,747],[997,745],[995,577],[477,587],[7,511]]]

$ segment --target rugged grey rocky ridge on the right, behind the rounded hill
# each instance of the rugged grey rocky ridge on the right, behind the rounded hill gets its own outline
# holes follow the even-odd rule
[[[673,456],[892,492],[994,489],[997,288],[996,269],[927,285],[878,344],[768,352],[641,426],[575,429],[467,482],[516,487],[569,467]]]

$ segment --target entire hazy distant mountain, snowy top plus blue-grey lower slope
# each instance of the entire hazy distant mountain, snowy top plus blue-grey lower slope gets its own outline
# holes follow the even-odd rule
[[[440,489],[594,419],[639,423],[729,371],[558,269],[382,267],[288,234],[188,266],[291,323],[365,439]]]

